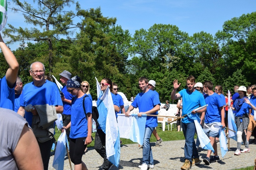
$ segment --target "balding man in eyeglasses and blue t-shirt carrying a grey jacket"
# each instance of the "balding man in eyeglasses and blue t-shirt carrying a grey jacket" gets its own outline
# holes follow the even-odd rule
[[[56,113],[63,112],[63,104],[56,84],[44,79],[45,67],[43,63],[32,63],[30,65],[29,73],[33,79],[33,82],[24,86],[22,95],[20,97],[20,107],[17,113],[22,117],[25,115],[28,124],[33,128],[37,126],[34,123],[32,126],[32,118],[34,116],[35,118],[38,117],[37,115],[39,115],[40,118],[44,115],[54,117],[55,109]],[[37,108],[40,108],[41,111],[38,112]],[[52,108],[51,112],[48,112],[50,110],[49,108]],[[40,123],[41,121],[42,120],[40,120]],[[47,128],[41,129],[41,131],[46,134],[54,133],[54,123],[49,125]],[[37,136],[38,134],[35,131],[34,134],[37,137],[44,169],[46,170],[48,169],[49,159],[51,156],[53,136],[50,135],[50,137],[40,137]]]

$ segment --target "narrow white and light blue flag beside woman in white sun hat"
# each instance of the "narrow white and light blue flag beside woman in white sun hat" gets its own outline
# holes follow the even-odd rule
[[[230,104],[230,92],[228,90],[228,106],[230,106]],[[234,121],[233,111],[230,107],[228,108],[228,129],[232,130],[228,131],[228,137],[237,141],[237,125]]]

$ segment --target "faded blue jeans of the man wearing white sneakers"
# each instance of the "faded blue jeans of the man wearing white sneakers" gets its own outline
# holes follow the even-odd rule
[[[146,127],[145,128],[145,135],[143,140],[143,157],[142,157],[142,164],[150,164],[154,165],[153,154],[150,146],[150,137],[153,132],[154,128]]]

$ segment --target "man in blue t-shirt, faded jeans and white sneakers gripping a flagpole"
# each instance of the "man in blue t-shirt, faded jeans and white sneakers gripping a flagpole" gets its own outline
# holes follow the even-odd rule
[[[128,108],[128,111],[125,113],[126,116],[129,116],[130,111],[137,107],[139,107],[138,116],[142,116],[143,114],[156,115],[157,111],[160,110],[159,96],[154,91],[148,89],[147,86],[148,79],[145,77],[141,77],[139,79],[139,87],[142,92],[136,96],[136,98]],[[141,170],[147,170],[147,168],[154,168],[154,159],[150,146],[150,137],[156,126],[157,117],[147,116],[143,140],[142,165],[139,166]]]

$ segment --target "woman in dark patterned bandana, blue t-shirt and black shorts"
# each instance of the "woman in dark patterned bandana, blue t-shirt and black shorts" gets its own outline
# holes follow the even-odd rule
[[[82,156],[87,145],[92,141],[92,107],[93,102],[82,90],[81,80],[75,76],[68,80],[67,90],[74,96],[71,105],[71,121],[63,126],[62,132],[71,127],[69,135],[69,151],[75,169],[87,169]]]

